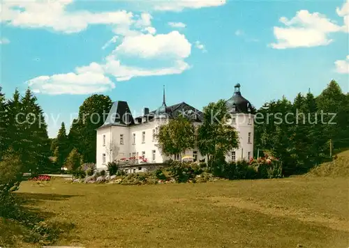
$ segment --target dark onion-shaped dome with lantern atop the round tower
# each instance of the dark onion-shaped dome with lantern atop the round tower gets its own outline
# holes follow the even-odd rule
[[[230,113],[251,113],[252,105],[242,96],[240,87],[240,84],[235,85],[235,93],[225,103],[226,107]]]

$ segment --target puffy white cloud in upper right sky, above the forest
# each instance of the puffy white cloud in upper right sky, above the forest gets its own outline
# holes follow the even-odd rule
[[[329,33],[341,31],[341,26],[325,15],[309,13],[308,10],[298,11],[291,20],[281,17],[280,22],[285,27],[274,26],[277,42],[270,45],[275,49],[328,45],[333,41],[328,38]]]

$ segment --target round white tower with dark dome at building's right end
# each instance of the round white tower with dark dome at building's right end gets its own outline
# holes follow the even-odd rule
[[[252,104],[242,96],[241,85],[235,85],[235,92],[226,102],[232,116],[229,125],[236,128],[239,134],[239,148],[232,150],[226,157],[228,161],[249,160],[253,157],[254,115]]]

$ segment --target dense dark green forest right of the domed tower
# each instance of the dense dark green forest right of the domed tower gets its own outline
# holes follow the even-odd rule
[[[283,121],[276,121],[277,113]],[[265,119],[255,124],[255,154],[260,149],[278,157],[285,176],[304,173],[349,148],[349,94],[334,80],[317,97],[309,91],[293,102],[272,100],[258,114]]]

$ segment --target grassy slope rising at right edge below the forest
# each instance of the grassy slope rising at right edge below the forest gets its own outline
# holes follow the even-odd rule
[[[349,150],[336,155],[332,162],[326,162],[311,169],[305,176],[349,177]]]

